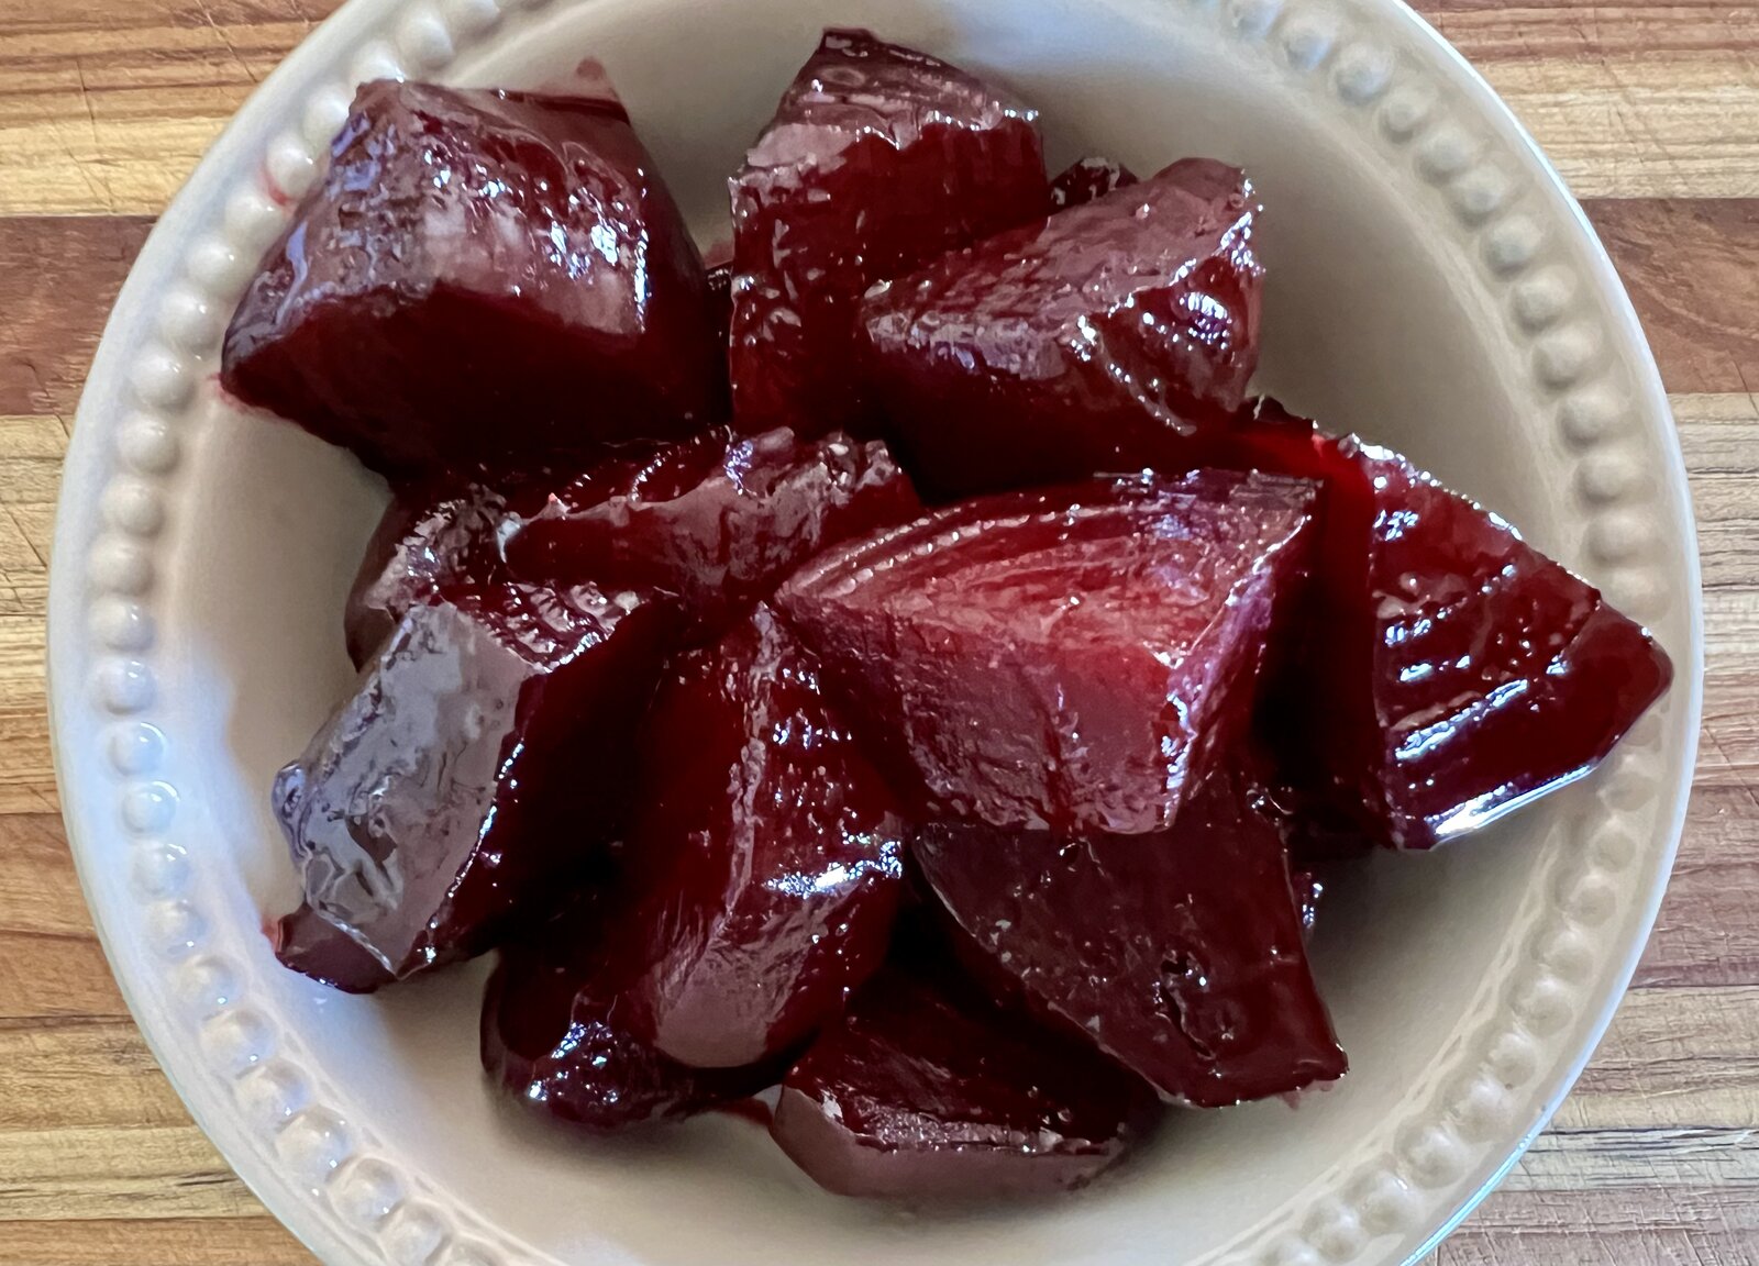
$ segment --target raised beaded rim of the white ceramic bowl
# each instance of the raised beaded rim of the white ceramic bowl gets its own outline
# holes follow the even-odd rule
[[[142,248],[93,360],[63,475],[49,695],[81,886],[123,995],[195,1120],[276,1217],[332,1262],[551,1259],[387,1155],[369,1124],[329,1108],[339,1101],[334,1087],[301,1062],[297,1034],[281,1032],[281,1018],[252,999],[248,972],[215,944],[202,876],[172,830],[179,793],[160,777],[155,549],[179,492],[179,422],[202,390],[197,371],[287,200],[315,178],[352,84],[440,74],[461,51],[565,2],[595,0],[350,0],[318,26],[237,113]],[[1439,222],[1513,315],[1511,355],[1525,357],[1534,411],[1553,417],[1571,454],[1585,550],[1608,571],[1604,587],[1682,635],[1669,645],[1680,672],[1664,716],[1646,719],[1595,775],[1611,800],[1595,811],[1601,828],[1585,826],[1581,849],[1541,872],[1543,900],[1523,906],[1529,918],[1511,930],[1522,951],[1509,979],[1497,983],[1486,1015],[1462,1022],[1456,1032],[1469,1037],[1432,1078],[1441,1088],[1414,1110],[1402,1104],[1298,1197],[1201,1259],[1414,1261],[1550,1122],[1653,923],[1683,826],[1703,693],[1683,457],[1636,313],[1580,206],[1490,86],[1421,18],[1398,0],[1140,5],[1212,23],[1326,109],[1354,116],[1402,178],[1434,190]],[[1660,457],[1659,478],[1634,477],[1629,445],[1618,450],[1632,431],[1655,450],[1643,455]],[[1648,542],[1645,559],[1653,533],[1678,557],[1657,556]],[[1646,777],[1655,765],[1671,767],[1671,784]],[[1646,805],[1624,807],[1622,784],[1648,789]]]

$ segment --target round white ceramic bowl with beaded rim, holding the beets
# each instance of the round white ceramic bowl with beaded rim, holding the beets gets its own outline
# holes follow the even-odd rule
[[[540,86],[598,58],[707,239],[825,23],[1010,81],[1054,160],[1242,164],[1268,206],[1263,383],[1507,513],[1680,670],[1592,779],[1337,886],[1316,958],[1339,1088],[1182,1117],[1031,1208],[839,1201],[732,1118],[559,1136],[477,1069],[480,965],[348,999],[262,935],[294,893],[269,775],[347,688],[341,601],[383,492],[211,383],[354,84]],[[325,1261],[443,1266],[1411,1259],[1611,1016],[1680,832],[1701,677],[1685,477],[1636,316],[1544,158],[1397,0],[354,0],[239,113],[116,302],[67,461],[49,659],[86,895],[190,1111]]]

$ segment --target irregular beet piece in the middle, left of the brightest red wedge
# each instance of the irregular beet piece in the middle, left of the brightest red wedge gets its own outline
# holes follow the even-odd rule
[[[712,631],[821,549],[920,512],[880,441],[714,429],[595,466],[517,520],[507,557],[536,580],[665,589]]]

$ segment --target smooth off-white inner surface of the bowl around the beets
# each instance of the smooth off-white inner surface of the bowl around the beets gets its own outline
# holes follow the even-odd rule
[[[825,23],[871,25],[996,74],[1041,109],[1054,164],[1096,151],[1143,172],[1191,153],[1240,164],[1266,206],[1261,385],[1405,450],[1576,559],[1558,441],[1532,417],[1527,364],[1483,266],[1437,230],[1441,195],[1372,128],[1342,125],[1344,107],[1317,109],[1184,12],[1149,0],[598,0],[466,51],[447,77],[565,86],[596,58],[705,243],[726,234],[725,178]],[[292,427],[202,408],[188,475],[201,512],[176,526],[192,563],[167,601],[167,679],[195,700],[185,742],[227,842],[211,860],[218,909],[253,932],[294,895],[267,786],[348,686],[341,601],[383,489]],[[1592,793],[1571,788],[1469,848],[1337,876],[1314,950],[1353,1064],[1337,1088],[1177,1115],[1113,1178],[1033,1206],[839,1201],[730,1117],[603,1143],[542,1129],[480,1076],[480,964],[362,1000],[276,971],[260,935],[243,939],[273,1006],[378,1146],[566,1261],[1189,1262],[1312,1189],[1400,1104],[1435,1094],[1430,1069],[1493,1004],[1518,950],[1507,928],[1544,900],[1536,876]],[[1511,1146],[1530,1124],[1511,1124]]]

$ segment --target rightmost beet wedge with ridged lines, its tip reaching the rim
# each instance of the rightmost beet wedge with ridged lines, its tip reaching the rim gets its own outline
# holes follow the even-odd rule
[[[1266,731],[1339,830],[1469,832],[1592,768],[1666,691],[1648,633],[1398,454],[1275,404],[1238,440],[1326,484],[1310,635]]]

